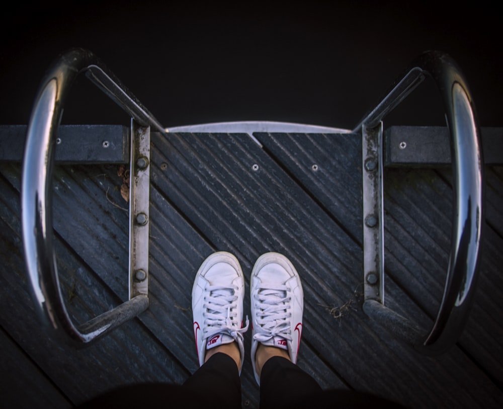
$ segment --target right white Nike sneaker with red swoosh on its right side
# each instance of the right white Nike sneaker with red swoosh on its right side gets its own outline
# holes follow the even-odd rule
[[[255,354],[259,343],[288,351],[297,362],[302,335],[304,293],[293,264],[283,255],[266,253],[259,257],[250,279],[251,364],[255,379]]]

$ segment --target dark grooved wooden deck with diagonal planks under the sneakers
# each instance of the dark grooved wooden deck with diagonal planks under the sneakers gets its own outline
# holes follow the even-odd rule
[[[292,260],[305,293],[298,365],[323,388],[372,392],[412,408],[503,405],[503,168],[485,167],[487,228],[466,329],[448,353],[426,357],[362,310],[361,136],[255,137],[262,146],[247,134],[152,133],[150,306],[81,349],[41,328],[34,314],[23,261],[20,165],[0,163],[3,407],[67,408],[124,384],[183,382],[198,367],[193,279],[202,261],[222,250],[236,255],[246,279],[264,252]],[[450,168],[385,170],[386,304],[425,329],[447,270],[450,180]],[[55,170],[57,265],[77,322],[128,297],[122,184],[118,165]],[[249,353],[241,379],[243,406],[258,407]]]

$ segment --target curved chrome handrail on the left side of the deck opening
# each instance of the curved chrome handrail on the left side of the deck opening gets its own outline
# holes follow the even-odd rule
[[[66,310],[56,267],[52,231],[54,144],[63,106],[75,78],[85,73],[134,121],[164,132],[159,122],[90,51],[71,49],[46,72],[28,125],[21,183],[25,262],[35,309],[41,320],[82,343],[103,336],[148,307],[140,294],[98,317],[75,325]],[[131,274],[131,272],[130,272]]]

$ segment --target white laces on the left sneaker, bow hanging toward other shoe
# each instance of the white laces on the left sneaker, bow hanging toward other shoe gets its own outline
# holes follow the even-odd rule
[[[234,340],[243,339],[243,333],[248,329],[248,317],[246,317],[246,326],[238,328],[237,322],[237,290],[236,286],[209,286],[207,288],[210,295],[205,298],[203,308],[206,312],[203,314],[205,325],[203,329],[203,338],[211,338],[215,334],[228,334]],[[234,318],[234,322],[232,319]]]

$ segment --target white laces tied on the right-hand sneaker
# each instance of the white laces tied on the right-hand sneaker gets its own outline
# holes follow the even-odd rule
[[[253,336],[258,342],[266,342],[278,336],[292,341],[289,318],[292,313],[288,302],[292,298],[288,295],[290,289],[285,285],[258,286],[255,296],[255,314],[259,328]]]

